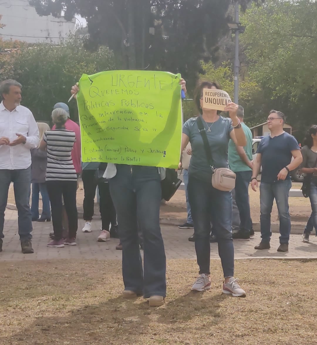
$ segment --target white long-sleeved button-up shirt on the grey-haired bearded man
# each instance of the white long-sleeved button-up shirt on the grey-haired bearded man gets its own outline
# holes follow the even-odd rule
[[[16,134],[26,137],[25,144],[16,146],[0,145],[0,169],[27,169],[31,165],[30,149],[39,145],[39,130],[32,112],[23,106],[13,111],[0,104],[0,138],[7,137],[10,142],[17,139]]]

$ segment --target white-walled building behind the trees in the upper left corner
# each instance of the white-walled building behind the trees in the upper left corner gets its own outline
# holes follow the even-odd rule
[[[69,22],[64,17],[40,17],[28,0],[2,0],[0,14],[1,23],[6,25],[0,29],[0,37],[5,40],[58,43],[76,29],[75,18]]]

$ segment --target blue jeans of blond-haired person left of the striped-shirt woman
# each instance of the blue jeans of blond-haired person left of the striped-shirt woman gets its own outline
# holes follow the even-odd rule
[[[49,196],[47,192],[46,183],[32,183],[32,204],[31,215],[32,219],[39,218],[39,194],[42,196],[42,215],[41,218],[51,218],[51,209],[49,204]]]

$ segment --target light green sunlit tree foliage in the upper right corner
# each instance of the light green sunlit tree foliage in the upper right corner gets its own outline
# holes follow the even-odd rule
[[[262,119],[274,105],[299,131],[316,123],[316,18],[317,4],[311,0],[269,0],[242,17],[249,73],[262,89],[253,109]]]

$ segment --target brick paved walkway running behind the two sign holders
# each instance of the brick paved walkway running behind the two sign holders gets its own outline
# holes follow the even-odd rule
[[[47,248],[49,232],[52,230],[52,223],[33,222],[32,245],[34,254],[23,255],[18,236],[17,211],[6,210],[4,223],[3,252],[0,253],[1,261],[9,260],[42,260],[42,259],[121,259],[121,251],[116,250],[117,239],[109,242],[98,243],[97,237],[100,233],[101,220],[94,220],[92,233],[82,233],[84,220],[78,220],[77,246],[65,246],[65,248]],[[162,234],[165,243],[167,259],[189,258],[195,259],[194,243],[188,242],[192,230],[181,230],[176,226],[162,225]],[[317,237],[310,236],[310,243],[302,243],[301,235],[291,235],[289,252],[278,253],[278,234],[272,234],[270,250],[255,250],[254,245],[260,241],[260,234],[256,233],[250,241],[235,240],[235,255],[241,258],[260,257],[285,257],[285,258],[317,258]],[[217,244],[211,244],[211,258],[218,259]]]

